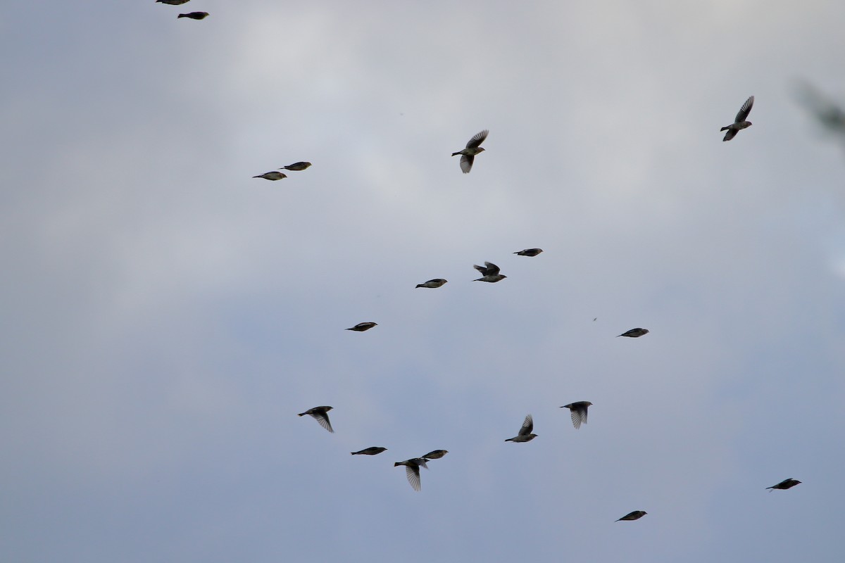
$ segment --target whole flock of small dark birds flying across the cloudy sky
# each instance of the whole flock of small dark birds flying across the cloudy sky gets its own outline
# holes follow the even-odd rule
[[[156,3],[170,4],[172,6],[180,6],[184,3],[188,3],[189,1],[190,0],[155,0]],[[208,17],[208,15],[208,12],[190,12],[188,14],[178,14],[177,18],[205,19]],[[720,130],[727,132],[725,133],[724,138],[722,138],[722,141],[730,141],[731,139],[737,136],[737,133],[751,126],[751,122],[748,121],[748,116],[753,106],[754,96],[752,95],[748,98],[748,100],[745,100],[744,104],[739,108],[739,112],[734,117],[733,123],[722,127],[722,129]],[[472,165],[475,162],[475,157],[484,151],[484,148],[481,145],[487,139],[488,134],[489,131],[487,129],[476,133],[466,143],[466,147],[464,149],[452,153],[452,156],[461,156],[460,165],[461,171],[464,174],[468,174],[470,171],[472,171]],[[292,165],[282,166],[276,171],[264,172],[264,174],[259,174],[258,176],[253,177],[263,178],[264,180],[270,181],[278,181],[287,177],[284,172],[281,172],[282,170],[304,171],[307,170],[309,166],[311,166],[310,162],[295,162]],[[525,250],[514,252],[514,254],[526,257],[536,257],[541,252],[541,248],[526,248]],[[501,268],[499,268],[499,266],[494,263],[485,262],[483,266],[473,265],[473,268],[476,268],[477,271],[481,273],[481,278],[475,279],[474,281],[483,281],[488,282],[490,284],[494,284],[507,278],[507,276],[501,273]],[[443,285],[446,283],[447,280],[443,278],[429,279],[428,281],[423,282],[422,284],[417,284],[417,288],[437,289],[439,287],[443,287]],[[359,322],[354,327],[346,328],[346,330],[363,333],[377,326],[379,325],[376,322]],[[627,330],[624,333],[619,334],[618,336],[624,336],[627,338],[640,338],[641,336],[645,336],[648,332],[649,331],[646,328],[631,328],[630,330]],[[575,430],[578,430],[581,428],[582,424],[586,424],[587,410],[591,405],[592,403],[589,401],[576,401],[575,403],[565,404],[560,408],[570,409],[572,425],[575,426]],[[314,420],[317,420],[319,425],[321,425],[325,430],[334,432],[335,430],[332,429],[331,422],[329,420],[329,411],[331,409],[333,409],[333,407],[330,406],[313,407],[313,409],[308,409],[304,413],[299,413],[299,416],[305,416],[306,414],[308,414],[309,416],[313,417]],[[534,434],[533,430],[534,419],[531,414],[528,414],[526,415],[525,420],[523,420],[522,426],[518,431],[517,435],[512,438],[508,438],[505,441],[532,441],[534,438],[537,437],[537,434]],[[359,450],[358,452],[351,452],[351,454],[353,456],[375,456],[379,455],[379,453],[386,451],[386,447],[367,447],[363,450]],[[411,484],[413,490],[418,491],[422,488],[420,483],[420,468],[428,469],[428,462],[434,459],[440,459],[441,457],[444,457],[447,453],[449,453],[447,450],[433,450],[432,452],[428,452],[427,454],[420,457],[412,457],[410,459],[406,459],[405,461],[395,462],[394,467],[404,466],[408,483]],[[801,481],[797,479],[789,478],[782,480],[777,485],[771,485],[771,487],[766,487],[766,489],[787,490],[794,487],[795,485],[799,485],[800,483]],[[646,514],[647,512],[645,511],[635,510],[633,512],[629,512],[623,517],[620,517],[616,520],[616,522],[639,520],[641,517],[646,516]]]

